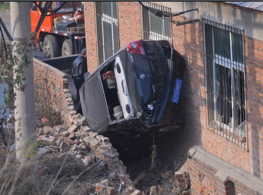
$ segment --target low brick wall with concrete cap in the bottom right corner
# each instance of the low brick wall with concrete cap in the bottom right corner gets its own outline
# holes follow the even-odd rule
[[[263,180],[225,162],[201,146],[189,150],[187,168],[194,195],[263,194]]]

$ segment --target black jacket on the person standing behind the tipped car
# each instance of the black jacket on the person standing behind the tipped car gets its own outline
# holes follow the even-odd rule
[[[79,55],[72,64],[71,75],[73,78],[84,78],[84,73],[87,70],[87,60],[85,57]]]

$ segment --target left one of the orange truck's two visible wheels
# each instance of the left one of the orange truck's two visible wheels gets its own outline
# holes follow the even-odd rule
[[[58,43],[53,35],[49,34],[45,36],[43,43],[43,53],[48,58],[59,56]]]

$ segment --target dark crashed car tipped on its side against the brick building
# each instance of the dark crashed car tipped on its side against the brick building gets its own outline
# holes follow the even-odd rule
[[[93,131],[104,135],[174,130],[183,125],[176,109],[183,74],[184,59],[168,41],[131,42],[80,87],[83,115]]]

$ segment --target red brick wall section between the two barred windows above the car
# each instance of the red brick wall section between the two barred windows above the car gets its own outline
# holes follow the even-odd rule
[[[141,8],[138,2],[118,2],[120,48],[142,39]]]

